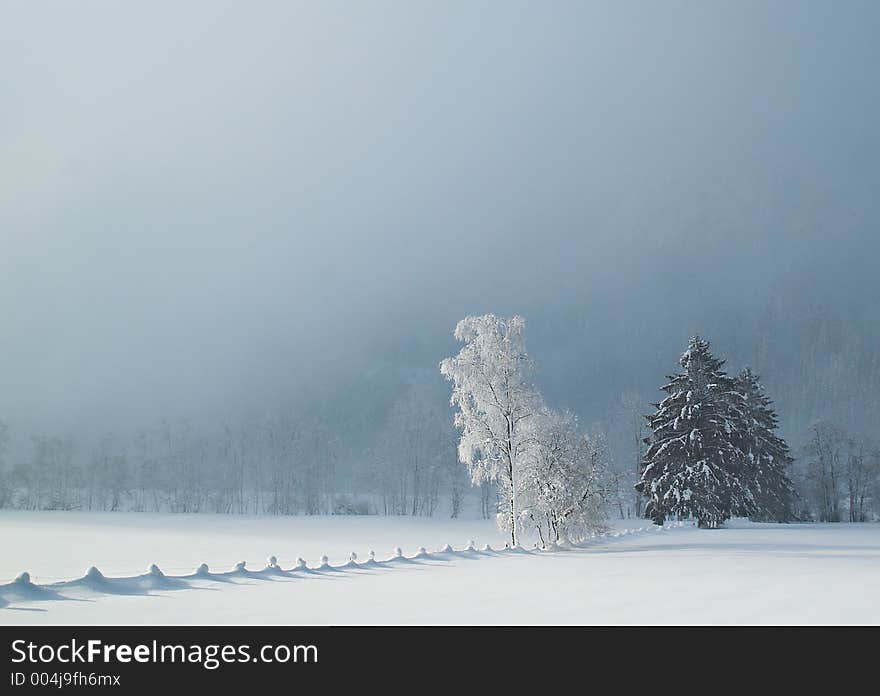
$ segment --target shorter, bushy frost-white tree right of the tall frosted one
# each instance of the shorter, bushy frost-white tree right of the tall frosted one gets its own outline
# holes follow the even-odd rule
[[[525,467],[522,515],[541,544],[578,541],[605,521],[608,448],[587,436],[570,411],[545,409],[536,419],[537,446]]]

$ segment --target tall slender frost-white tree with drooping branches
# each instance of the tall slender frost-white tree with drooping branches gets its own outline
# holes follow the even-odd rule
[[[452,382],[450,403],[458,408],[459,459],[475,484],[497,482],[498,521],[510,531],[513,546],[519,541],[521,475],[536,445],[535,420],[543,407],[530,380],[524,330],[519,316],[467,317],[455,327],[464,347],[440,363],[440,372]]]

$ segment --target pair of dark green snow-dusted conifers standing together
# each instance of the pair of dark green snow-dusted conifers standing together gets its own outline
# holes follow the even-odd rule
[[[748,368],[729,377],[699,336],[679,363],[682,372],[662,387],[668,396],[647,417],[651,435],[636,484],[648,498],[645,514],[657,524],[693,517],[701,527],[732,516],[796,519],[792,458],[758,377]]]

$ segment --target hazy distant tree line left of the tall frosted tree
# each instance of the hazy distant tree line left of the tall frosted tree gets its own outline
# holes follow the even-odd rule
[[[445,417],[444,417],[445,416]],[[340,467],[338,429],[270,415],[197,430],[162,422],[88,447],[35,435],[11,460],[0,423],[0,507],[31,510],[457,516],[470,488],[451,416],[413,387],[360,465]],[[485,491],[494,504],[494,489]],[[488,514],[488,509],[486,514]]]

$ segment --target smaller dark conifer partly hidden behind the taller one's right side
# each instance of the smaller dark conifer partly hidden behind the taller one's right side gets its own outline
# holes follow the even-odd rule
[[[737,375],[736,389],[743,396],[745,408],[743,427],[737,436],[754,504],[749,516],[759,522],[791,522],[795,519],[796,494],[787,469],[793,460],[788,443],[776,434],[779,423],[773,402],[749,368]]]

